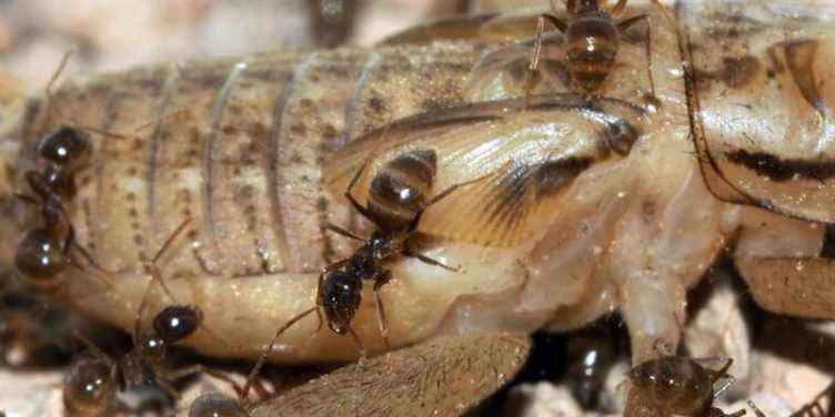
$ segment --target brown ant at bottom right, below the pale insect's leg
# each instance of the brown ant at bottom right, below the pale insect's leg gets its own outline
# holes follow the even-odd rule
[[[727,375],[732,364],[733,359],[728,358],[722,368],[712,370],[687,357],[647,360],[628,373],[631,387],[624,415],[744,416],[744,409],[726,415],[713,407],[713,400],[733,382]],[[722,378],[728,382],[714,391],[714,384]]]

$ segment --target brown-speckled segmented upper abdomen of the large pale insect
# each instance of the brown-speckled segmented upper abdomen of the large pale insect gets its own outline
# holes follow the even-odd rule
[[[180,273],[316,271],[348,251],[324,223],[351,215],[320,187],[325,157],[391,120],[461,103],[477,55],[342,49],[101,75],[30,102],[24,155],[59,123],[128,136],[94,135],[72,207],[79,243],[108,269],[151,260],[188,218],[190,244],[167,254]]]

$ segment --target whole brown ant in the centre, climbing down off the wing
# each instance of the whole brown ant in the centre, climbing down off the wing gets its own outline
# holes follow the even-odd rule
[[[272,346],[284,330],[293,326],[306,315],[315,312],[319,317],[319,328],[322,326],[324,314],[328,327],[338,335],[350,334],[358,347],[360,359],[366,353],[362,340],[351,327],[351,321],[362,302],[363,281],[374,283],[374,304],[376,306],[378,324],[383,343],[389,346],[389,329],[385,322],[385,311],[380,298],[380,288],[392,278],[392,273],[385,263],[396,256],[410,256],[426,264],[440,266],[450,271],[459,271],[431,257],[416,253],[410,246],[421,216],[431,205],[450,195],[461,186],[472,184],[486,177],[451,185],[440,194],[429,197],[436,173],[436,155],[432,150],[412,150],[398,155],[388,162],[371,180],[366,206],[361,205],[351,194],[354,185],[364,172],[366,161],[356,171],[345,189],[344,196],[353,208],[368,218],[376,230],[370,237],[363,238],[353,232],[336,225],[328,228],[343,236],[363,242],[350,257],[328,265],[319,275],[316,287],[316,305],[300,313],[285,323],[273,336],[253,367],[243,388],[247,398],[250,384],[263,366]],[[318,332],[316,330],[316,332]]]

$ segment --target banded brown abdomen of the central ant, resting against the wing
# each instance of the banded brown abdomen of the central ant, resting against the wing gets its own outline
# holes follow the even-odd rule
[[[435,179],[436,155],[414,150],[398,155],[371,181],[369,212],[389,231],[404,230],[426,206]]]

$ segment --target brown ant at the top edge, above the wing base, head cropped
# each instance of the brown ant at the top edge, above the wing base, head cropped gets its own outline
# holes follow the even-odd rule
[[[602,2],[605,4],[605,1]],[[615,22],[614,18],[623,12],[626,2],[627,0],[618,0],[614,7],[606,11],[601,8],[600,0],[566,0],[567,21],[549,13],[540,14],[533,58],[529,68],[530,77],[525,83],[525,90],[530,92],[537,81],[537,68],[542,53],[542,33],[545,30],[545,20],[547,20],[565,35],[567,44],[566,67],[571,80],[585,94],[595,95],[614,67],[622,33],[647,18],[646,14],[638,14]],[[552,9],[556,10],[553,0]],[[650,75],[652,81],[652,73]],[[654,91],[653,95],[655,95]]]

